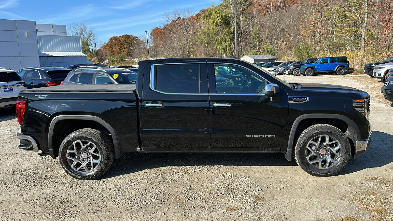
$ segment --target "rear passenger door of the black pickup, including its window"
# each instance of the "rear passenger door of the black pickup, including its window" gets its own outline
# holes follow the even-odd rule
[[[140,74],[144,74],[143,151],[206,151],[210,142],[206,61],[153,64]]]

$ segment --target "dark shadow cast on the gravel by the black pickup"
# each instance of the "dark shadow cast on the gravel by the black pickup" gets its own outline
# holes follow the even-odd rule
[[[351,158],[339,174],[349,174],[365,168],[377,168],[393,162],[393,136],[373,131],[369,150],[358,158]],[[145,169],[166,166],[297,166],[284,153],[124,153],[114,160],[112,167],[101,179],[116,177]],[[305,173],[305,175],[307,175]]]

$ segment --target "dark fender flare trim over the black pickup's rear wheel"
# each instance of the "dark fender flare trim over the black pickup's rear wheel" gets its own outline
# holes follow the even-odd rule
[[[97,116],[92,116],[92,115],[81,115],[81,114],[66,114],[66,115],[59,115],[59,116],[55,116],[50,124],[49,124],[49,128],[48,128],[48,151],[50,156],[55,159],[55,153],[53,152],[53,129],[55,128],[55,125],[57,122],[59,122],[60,120],[92,120],[95,121],[99,124],[101,124],[103,127],[105,127],[110,134],[112,135],[112,140],[113,140],[113,146],[114,146],[114,150],[115,150],[115,156],[116,159],[118,159],[121,156],[121,152],[120,152],[120,145],[119,145],[119,140],[118,140],[118,135],[116,133],[116,131],[113,129],[113,127],[111,125],[109,125],[109,123],[107,123],[105,120],[97,117]]]

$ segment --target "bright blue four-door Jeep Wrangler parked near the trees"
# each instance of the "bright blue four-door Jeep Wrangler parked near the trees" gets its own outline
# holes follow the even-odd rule
[[[333,72],[336,74],[345,74],[349,70],[349,61],[347,57],[321,57],[313,64],[304,64],[300,68],[300,73],[305,76],[313,76],[318,73]]]

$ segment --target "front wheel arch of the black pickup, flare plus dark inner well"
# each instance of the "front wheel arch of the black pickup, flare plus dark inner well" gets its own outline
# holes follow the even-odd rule
[[[295,143],[295,136],[299,133],[299,130],[302,129],[300,126],[303,126],[303,128],[309,124],[312,120],[312,124],[317,124],[317,123],[327,123],[332,125],[331,120],[337,122],[341,121],[347,125],[347,128],[339,128],[340,130],[345,133],[345,135],[349,138],[349,141],[351,143],[351,147],[354,147],[354,142],[356,139],[360,139],[361,133],[356,126],[356,124],[347,118],[346,116],[340,115],[340,114],[304,114],[296,118],[294,120],[294,123],[292,124],[290,133],[289,133],[289,138],[288,138],[288,146],[285,152],[285,158],[289,161],[292,160],[292,152],[294,149],[294,143]],[[334,126],[334,125],[333,125]],[[345,130],[345,131],[344,131]],[[351,148],[352,155],[354,154],[354,148]]]

